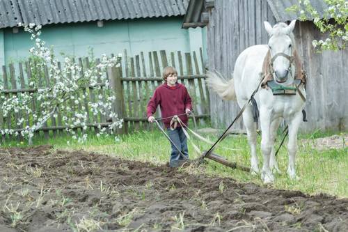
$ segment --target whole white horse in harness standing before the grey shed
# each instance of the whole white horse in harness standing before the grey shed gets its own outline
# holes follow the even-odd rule
[[[258,88],[262,80],[262,65],[267,53],[270,52],[271,76],[274,82],[281,86],[294,86],[295,42],[292,31],[296,20],[290,25],[278,23],[273,28],[269,22],[264,22],[264,27],[269,33],[268,45],[255,45],[242,52],[235,63],[233,79],[226,81],[214,72],[208,72],[207,83],[224,100],[237,100],[239,107],[243,107],[253,91]],[[300,93],[299,93],[300,91]],[[302,96],[301,96],[302,95]],[[301,111],[305,106],[306,92],[301,85],[294,91],[294,95],[273,95],[271,88],[260,88],[255,95],[260,110],[260,126],[262,130],[261,150],[263,166],[261,178],[265,184],[274,182],[272,171],[279,171],[274,155],[274,141],[276,130],[282,118],[289,125],[289,142],[287,150],[289,163],[287,173],[290,178],[296,179],[295,156],[297,150],[297,132],[302,121]],[[249,104],[243,112],[243,121],[251,146],[251,173],[260,173],[258,157],[256,155],[256,127],[253,121],[252,106]]]

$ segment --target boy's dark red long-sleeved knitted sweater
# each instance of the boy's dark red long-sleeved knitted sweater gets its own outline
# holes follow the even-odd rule
[[[192,109],[191,97],[187,88],[183,84],[177,83],[175,87],[170,87],[166,83],[158,86],[150,102],[148,102],[148,117],[155,114],[157,106],[161,109],[161,117],[166,118],[178,114],[184,114],[185,109]],[[187,125],[187,115],[179,116],[181,121]],[[168,128],[171,118],[164,119],[164,125]],[[177,126],[180,126],[179,124]]]

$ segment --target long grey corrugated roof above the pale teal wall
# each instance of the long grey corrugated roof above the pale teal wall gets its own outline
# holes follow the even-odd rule
[[[189,0],[0,0],[0,28],[184,15]]]

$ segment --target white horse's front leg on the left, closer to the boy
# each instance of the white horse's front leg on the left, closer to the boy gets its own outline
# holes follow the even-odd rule
[[[261,150],[263,155],[263,166],[261,179],[264,184],[274,183],[274,176],[269,168],[269,160],[272,150],[271,143],[271,109],[267,107],[260,108],[260,125],[261,125]],[[274,144],[274,142],[273,142]]]

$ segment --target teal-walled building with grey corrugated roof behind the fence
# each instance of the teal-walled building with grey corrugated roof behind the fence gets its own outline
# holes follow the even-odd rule
[[[55,54],[87,56],[198,51],[204,29],[181,28],[189,0],[0,0],[0,65],[21,61],[33,46],[19,22],[42,25]]]

